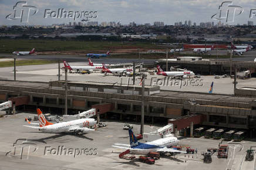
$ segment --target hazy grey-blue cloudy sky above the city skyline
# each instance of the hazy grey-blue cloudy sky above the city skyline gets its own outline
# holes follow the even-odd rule
[[[25,0],[22,0],[25,1]],[[193,22],[215,21],[211,16],[218,12],[218,6],[224,1],[218,0],[28,0],[28,5],[36,6],[38,12],[32,15],[31,10],[28,23],[21,23],[21,19],[8,20],[6,16],[14,13],[14,5],[19,1],[0,0],[0,25],[52,25],[52,23],[69,23],[73,19],[43,18],[45,9],[50,12],[65,9],[66,11],[97,11],[97,18],[90,21],[115,21],[122,24],[129,22],[153,23],[163,21],[167,25],[174,22],[191,20]],[[234,23],[256,23],[256,16],[250,19],[250,10],[256,9],[256,0],[235,0],[233,5],[242,6],[244,12],[235,16]],[[256,11],[256,10],[255,10]],[[20,13],[20,12],[17,12]],[[237,12],[238,13],[238,12]],[[17,14],[18,15],[18,14]],[[24,14],[25,15],[25,14]],[[76,22],[81,21],[79,18]],[[223,21],[224,22],[224,21]],[[233,23],[233,24],[234,24]],[[231,23],[232,24],[232,23]]]

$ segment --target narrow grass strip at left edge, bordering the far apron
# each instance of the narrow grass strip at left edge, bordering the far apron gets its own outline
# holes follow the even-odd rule
[[[28,66],[28,65],[41,65],[56,63],[53,60],[16,60],[16,66]],[[0,67],[11,67],[14,66],[14,61],[0,62]]]

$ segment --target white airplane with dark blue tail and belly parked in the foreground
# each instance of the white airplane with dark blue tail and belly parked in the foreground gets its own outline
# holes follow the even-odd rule
[[[114,144],[112,147],[114,148],[121,148],[127,149],[130,151],[130,154],[134,155],[146,155],[149,152],[161,152],[161,153],[171,153],[171,154],[178,154],[184,153],[185,151],[179,151],[177,149],[173,149],[178,144],[178,139],[176,137],[167,137],[161,138],[159,140],[141,143],[138,142],[133,131],[129,129],[129,136],[130,136],[130,145],[127,144]]]

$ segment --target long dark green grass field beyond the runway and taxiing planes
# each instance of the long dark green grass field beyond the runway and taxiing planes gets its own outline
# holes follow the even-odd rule
[[[0,52],[11,53],[14,51],[31,51],[35,47],[38,52],[56,52],[72,50],[114,50],[115,47],[136,47],[151,48],[157,47],[149,42],[137,42],[134,44],[122,44],[122,42],[105,41],[75,41],[75,40],[19,40],[19,39],[0,39]]]

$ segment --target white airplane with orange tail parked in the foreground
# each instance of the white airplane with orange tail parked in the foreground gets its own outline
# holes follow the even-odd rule
[[[95,131],[94,129],[90,128],[96,125],[96,121],[94,118],[81,118],[78,120],[72,120],[72,121],[53,124],[46,120],[46,118],[42,114],[42,111],[39,108],[36,111],[38,112],[39,127],[29,126],[29,125],[23,125],[23,126],[29,127],[29,128],[35,128],[45,133],[55,133],[55,134],[62,133],[62,132],[74,132],[75,134],[77,134],[78,132]],[[32,124],[29,121],[28,123]]]

